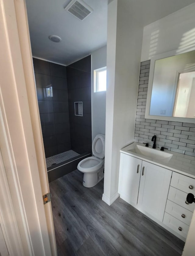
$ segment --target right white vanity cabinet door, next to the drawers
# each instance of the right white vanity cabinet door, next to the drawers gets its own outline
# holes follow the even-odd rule
[[[138,209],[162,221],[172,171],[142,161]]]

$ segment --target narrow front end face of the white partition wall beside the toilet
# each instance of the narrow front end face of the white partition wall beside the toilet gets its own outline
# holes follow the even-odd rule
[[[108,205],[110,205],[112,180],[112,133],[115,89],[116,18],[117,0],[114,0],[108,4],[105,172],[104,194],[102,196],[102,200],[105,201]]]

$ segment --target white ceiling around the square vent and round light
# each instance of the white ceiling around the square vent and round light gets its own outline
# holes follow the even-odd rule
[[[30,40],[34,57],[69,65],[107,41],[108,0],[84,0],[94,11],[80,21],[64,7],[70,0],[26,0]],[[118,0],[140,16],[143,26],[167,16],[194,0]],[[111,1],[109,1],[111,2]],[[49,35],[58,35],[60,43],[51,42]]]

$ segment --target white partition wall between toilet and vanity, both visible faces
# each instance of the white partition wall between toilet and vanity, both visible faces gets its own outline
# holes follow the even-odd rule
[[[116,29],[116,30],[115,30]],[[120,149],[133,142],[143,26],[128,0],[108,4],[105,178],[102,199],[118,196]]]

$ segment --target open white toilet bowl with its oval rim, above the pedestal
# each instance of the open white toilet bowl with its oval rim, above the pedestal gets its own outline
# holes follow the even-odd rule
[[[103,159],[95,156],[87,157],[79,162],[77,169],[82,173],[93,173],[102,166],[103,162]]]

